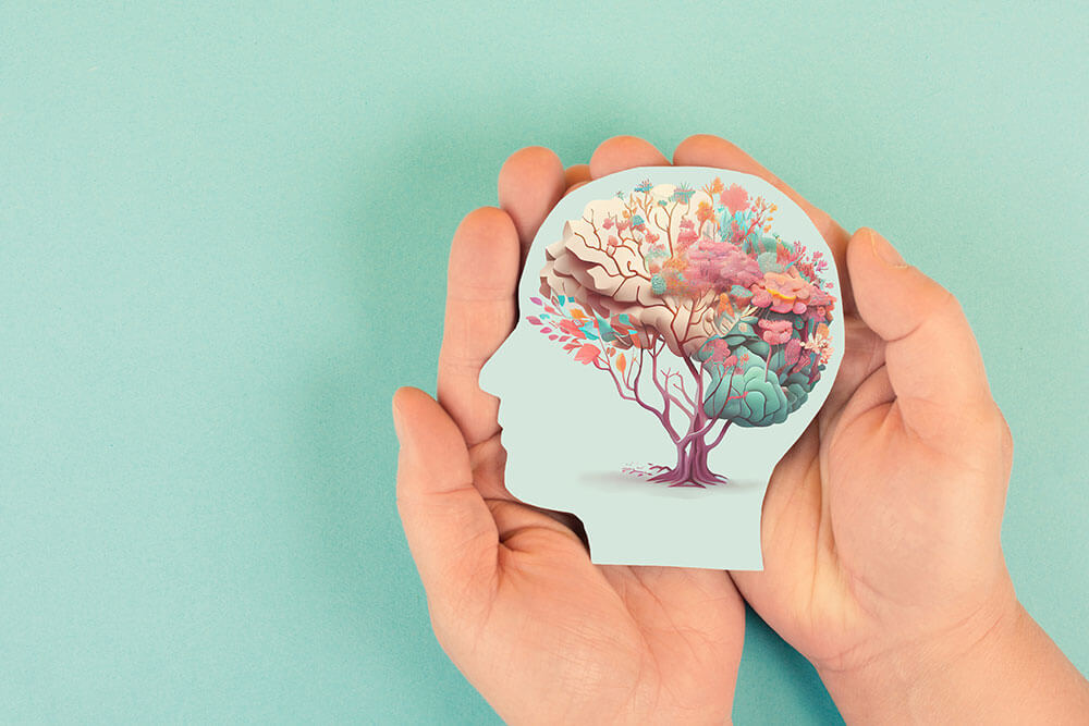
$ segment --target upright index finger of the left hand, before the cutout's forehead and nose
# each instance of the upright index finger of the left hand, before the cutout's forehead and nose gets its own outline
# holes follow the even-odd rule
[[[480,390],[480,368],[514,327],[518,233],[501,209],[469,212],[450,248],[439,349],[439,403],[473,446],[499,432],[499,399]]]

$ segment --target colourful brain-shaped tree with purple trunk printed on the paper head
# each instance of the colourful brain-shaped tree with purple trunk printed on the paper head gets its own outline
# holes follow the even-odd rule
[[[546,247],[527,320],[658,419],[676,463],[652,481],[724,483],[707,458],[726,430],[785,421],[828,364],[828,261],[773,233],[775,211],[721,179],[646,180]]]

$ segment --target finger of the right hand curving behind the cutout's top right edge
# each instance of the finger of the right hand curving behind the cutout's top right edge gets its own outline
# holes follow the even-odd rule
[[[772,174],[758,163],[752,157],[742,151],[724,138],[710,134],[696,134],[681,141],[673,152],[673,163],[677,167],[715,167],[719,169],[730,169],[739,171],[743,174],[759,176],[780,192],[790,197],[794,204],[798,205],[807,217],[812,221],[817,231],[824,237],[832,257],[835,260],[836,269],[840,271],[840,291],[843,294],[843,308],[845,312],[854,311],[854,302],[851,293],[851,280],[843,272],[845,268],[845,254],[847,250],[847,233],[833,220],[828,212],[824,212],[787,186],[781,179]]]

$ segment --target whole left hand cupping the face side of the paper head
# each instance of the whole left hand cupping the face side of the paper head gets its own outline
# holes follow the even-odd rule
[[[439,402],[397,391],[397,507],[436,636],[509,723],[729,721],[744,606],[730,576],[597,566],[577,522],[503,484],[498,401],[477,383],[511,332],[537,227],[568,186],[666,163],[633,139],[568,170],[541,148],[512,156],[502,209],[469,213],[450,254]],[[441,404],[441,405],[440,405]]]

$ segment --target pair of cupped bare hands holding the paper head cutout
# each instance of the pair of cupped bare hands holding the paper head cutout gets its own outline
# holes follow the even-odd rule
[[[766,569],[596,566],[577,520],[503,484],[498,401],[480,367],[556,200],[666,164],[616,137],[564,169],[539,147],[499,175],[450,256],[438,402],[394,396],[397,506],[443,649],[509,723],[723,723],[742,596],[858,723],[1085,723],[1089,685],[1017,602],[1000,544],[1012,441],[956,299],[880,235],[848,235],[741,149],[693,136],[677,165],[768,180],[841,272],[846,342],[824,407],[772,476]]]

